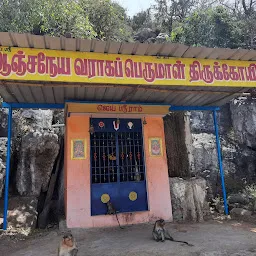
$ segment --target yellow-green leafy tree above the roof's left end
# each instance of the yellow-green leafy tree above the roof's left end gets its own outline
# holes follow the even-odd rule
[[[86,38],[95,36],[88,17],[73,0],[2,0],[0,30],[55,36],[68,32]]]

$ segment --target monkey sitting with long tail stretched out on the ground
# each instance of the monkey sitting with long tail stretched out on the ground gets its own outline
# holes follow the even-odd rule
[[[193,246],[192,244],[189,244],[188,242],[185,241],[174,240],[169,234],[168,230],[165,228],[165,221],[163,219],[157,220],[155,222],[152,235],[157,242],[164,242],[165,240],[170,240],[172,242],[184,243],[187,244],[188,246]]]

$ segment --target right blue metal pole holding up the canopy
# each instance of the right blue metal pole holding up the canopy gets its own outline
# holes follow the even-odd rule
[[[219,163],[219,170],[220,170],[220,177],[221,177],[221,187],[222,187],[223,200],[224,200],[224,211],[225,211],[225,214],[228,215],[227,194],[226,194],[225,178],[224,178],[224,171],[223,171],[223,165],[222,165],[221,146],[220,146],[220,137],[219,137],[219,129],[218,129],[217,111],[216,110],[213,110],[213,121],[214,121],[214,129],[215,129],[215,136],[216,136],[216,149],[217,149],[217,156],[218,156],[218,163]]]

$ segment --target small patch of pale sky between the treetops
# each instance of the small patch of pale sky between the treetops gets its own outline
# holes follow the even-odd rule
[[[133,16],[149,8],[154,3],[154,0],[115,0],[115,2],[126,8],[129,16]]]

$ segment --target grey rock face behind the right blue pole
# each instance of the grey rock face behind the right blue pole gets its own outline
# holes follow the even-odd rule
[[[222,195],[212,114],[191,112],[192,174],[207,180],[208,198]],[[223,168],[230,206],[241,206],[238,197],[246,186],[256,183],[256,101],[238,98],[218,114]],[[240,198],[241,199],[241,198]],[[240,200],[239,199],[239,200]],[[238,200],[238,201],[239,201]],[[241,201],[241,200],[240,200]],[[252,202],[250,201],[250,205]],[[232,208],[231,207],[231,208]],[[250,208],[242,205],[244,208]]]

